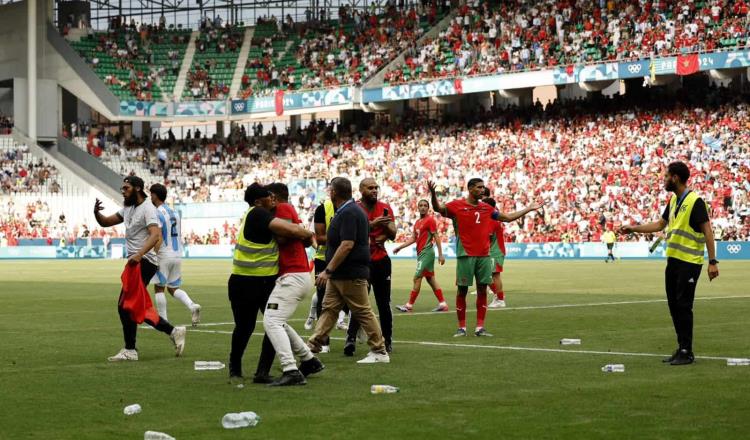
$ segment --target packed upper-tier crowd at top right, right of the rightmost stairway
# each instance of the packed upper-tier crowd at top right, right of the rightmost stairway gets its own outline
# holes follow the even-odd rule
[[[385,81],[495,74],[748,47],[745,0],[466,0]]]

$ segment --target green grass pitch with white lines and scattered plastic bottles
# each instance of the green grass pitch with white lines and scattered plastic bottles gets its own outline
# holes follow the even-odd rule
[[[413,264],[394,265],[394,305],[408,296]],[[388,365],[357,365],[366,346],[349,358],[335,339],[320,355],[326,370],[307,386],[237,389],[226,369],[193,370],[195,360],[228,356],[228,260],[184,264],[184,287],[203,305],[206,325],[188,332],[183,358],[165,335],[139,330],[140,361],[121,364],[106,361],[122,347],[121,261],[0,262],[0,438],[141,439],[146,430],[180,440],[748,438],[750,367],[707,358],[750,357],[748,263],[722,262],[713,283],[702,275],[695,351],[703,358],[684,367],[656,356],[675,346],[664,264],[510,261],[509,307],[488,313],[492,338],[453,338],[453,312],[394,312]],[[453,270],[452,262],[439,268],[451,310]],[[415,312],[435,305],[425,287]],[[308,305],[292,322],[303,335]],[[173,299],[169,318],[189,322]],[[561,347],[560,338],[583,343]],[[246,373],[255,369],[260,339],[250,341]],[[626,371],[602,373],[607,363]],[[401,392],[371,395],[377,383]],[[131,403],[143,412],[124,416]],[[258,426],[221,427],[223,414],[250,410],[261,416]]]

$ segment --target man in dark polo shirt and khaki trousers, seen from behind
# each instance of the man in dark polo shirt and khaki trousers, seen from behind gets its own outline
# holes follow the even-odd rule
[[[326,268],[316,284],[326,286],[323,312],[308,344],[318,353],[327,342],[328,334],[344,304],[367,334],[370,353],[361,364],[388,363],[385,340],[367,294],[370,275],[370,240],[367,216],[352,199],[352,183],[343,177],[331,181],[331,200],[336,215],[326,235]]]

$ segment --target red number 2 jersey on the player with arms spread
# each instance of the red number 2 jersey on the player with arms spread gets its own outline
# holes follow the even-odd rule
[[[458,241],[457,257],[487,257],[490,254],[490,234],[495,226],[495,208],[479,202],[472,205],[465,199],[456,199],[445,205],[448,217],[453,219]]]

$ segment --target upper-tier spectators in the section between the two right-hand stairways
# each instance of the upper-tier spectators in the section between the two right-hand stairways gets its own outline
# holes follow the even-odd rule
[[[441,4],[447,9],[447,3]],[[372,6],[369,11],[342,6],[337,20],[318,17],[295,24],[287,16],[284,22],[276,17],[261,21],[277,24],[278,32],[255,39],[262,51],[247,60],[247,68],[255,73],[245,74],[241,94],[361,85],[439,17],[436,1],[410,7],[390,4],[380,13]],[[288,44],[279,48],[274,44],[278,41]],[[287,52],[294,54],[292,62],[282,60]]]

